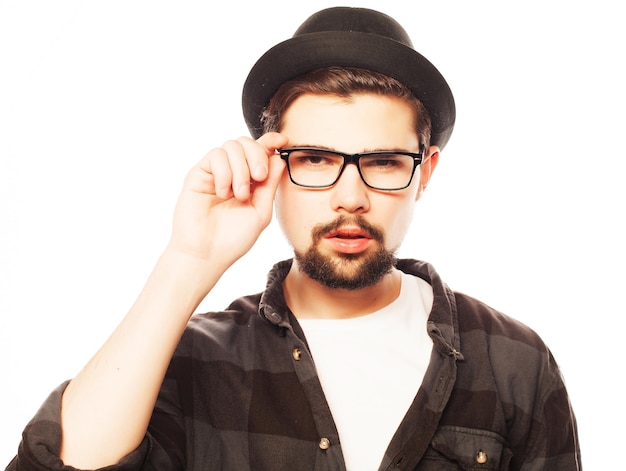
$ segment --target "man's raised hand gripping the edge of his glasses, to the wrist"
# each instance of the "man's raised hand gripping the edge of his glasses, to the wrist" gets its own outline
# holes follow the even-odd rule
[[[254,245],[272,217],[287,138],[242,137],[207,153],[187,174],[168,249],[226,269]],[[214,265],[215,266],[215,265]]]

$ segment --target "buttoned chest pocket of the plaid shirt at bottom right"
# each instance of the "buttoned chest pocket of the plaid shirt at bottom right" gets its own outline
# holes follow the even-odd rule
[[[488,430],[440,427],[416,471],[507,470],[511,452],[504,438]]]

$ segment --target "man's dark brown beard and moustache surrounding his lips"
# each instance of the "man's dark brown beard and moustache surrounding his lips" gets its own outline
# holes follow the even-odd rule
[[[378,250],[372,254],[338,254],[326,256],[318,250],[318,242],[325,234],[346,224],[348,218],[341,216],[327,225],[313,230],[311,247],[305,253],[295,252],[298,266],[309,278],[327,288],[358,290],[377,284],[396,265],[394,252],[385,249],[382,231],[365,222],[360,216],[353,224],[369,233],[378,242]]]

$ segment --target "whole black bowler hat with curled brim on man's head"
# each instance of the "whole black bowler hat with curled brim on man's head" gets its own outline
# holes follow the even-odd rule
[[[301,74],[324,67],[358,67],[400,81],[419,98],[432,119],[431,145],[444,148],[454,127],[454,97],[441,73],[390,16],[351,7],[328,8],[310,16],[291,39],[267,51],[243,87],[243,113],[254,138],[261,114],[278,88]]]

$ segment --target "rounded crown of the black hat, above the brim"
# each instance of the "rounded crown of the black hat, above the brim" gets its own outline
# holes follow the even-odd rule
[[[413,49],[411,38],[396,20],[384,13],[368,8],[335,7],[321,10],[300,25],[294,38],[329,31],[375,34]]]

